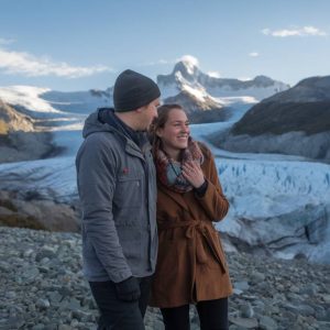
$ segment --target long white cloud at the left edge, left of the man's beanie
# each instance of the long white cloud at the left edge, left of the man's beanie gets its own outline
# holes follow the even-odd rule
[[[62,62],[55,63],[47,57],[37,58],[29,53],[13,52],[0,48],[0,70],[6,74],[19,74],[29,77],[58,76],[79,78],[103,72],[112,72],[107,66],[70,66]]]

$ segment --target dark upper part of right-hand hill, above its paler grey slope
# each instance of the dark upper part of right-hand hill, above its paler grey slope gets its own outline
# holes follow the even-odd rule
[[[233,127],[233,135],[330,131],[330,76],[311,77],[255,105]]]

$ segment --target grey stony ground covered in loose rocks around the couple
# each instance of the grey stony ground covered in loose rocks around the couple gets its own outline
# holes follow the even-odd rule
[[[0,329],[96,329],[80,235],[0,227]],[[230,329],[330,329],[330,266],[229,253]],[[199,329],[191,307],[191,329]],[[156,308],[147,330],[164,329]]]

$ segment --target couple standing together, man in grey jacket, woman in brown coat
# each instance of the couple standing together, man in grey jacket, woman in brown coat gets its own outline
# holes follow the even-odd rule
[[[228,329],[231,283],[215,221],[223,196],[209,148],[190,136],[179,105],[121,73],[113,109],[91,113],[76,158],[82,208],[84,273],[100,311],[98,329],[142,330],[146,306],[166,330]]]

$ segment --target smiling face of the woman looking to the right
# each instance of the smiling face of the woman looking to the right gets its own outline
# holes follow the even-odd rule
[[[162,140],[163,147],[167,152],[186,148],[190,129],[185,111],[177,108],[172,109],[164,128],[158,128],[156,134]]]

